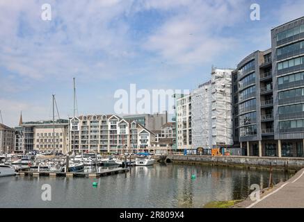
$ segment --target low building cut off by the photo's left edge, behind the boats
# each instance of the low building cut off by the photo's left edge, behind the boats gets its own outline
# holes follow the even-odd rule
[[[0,153],[12,153],[15,149],[15,129],[0,123]]]

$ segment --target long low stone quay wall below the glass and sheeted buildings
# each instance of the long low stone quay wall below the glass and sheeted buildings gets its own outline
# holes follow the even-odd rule
[[[166,162],[179,164],[207,164],[221,167],[243,167],[249,169],[274,169],[298,171],[304,168],[304,158],[295,157],[247,157],[210,155],[167,155]]]

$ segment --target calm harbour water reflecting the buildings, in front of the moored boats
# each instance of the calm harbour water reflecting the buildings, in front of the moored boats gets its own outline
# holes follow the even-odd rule
[[[290,177],[273,171],[274,183]],[[102,178],[16,176],[0,178],[0,207],[202,207],[246,198],[250,185],[268,183],[269,171],[177,164],[132,167]],[[51,186],[50,201],[41,198],[45,184]]]

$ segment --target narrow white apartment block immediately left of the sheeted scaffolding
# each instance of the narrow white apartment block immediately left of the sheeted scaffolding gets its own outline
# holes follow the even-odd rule
[[[191,94],[175,95],[177,150],[191,149]]]

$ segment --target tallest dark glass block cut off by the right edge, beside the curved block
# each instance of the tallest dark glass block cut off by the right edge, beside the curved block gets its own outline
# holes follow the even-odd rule
[[[278,156],[303,157],[304,17],[273,28],[271,42]]]

